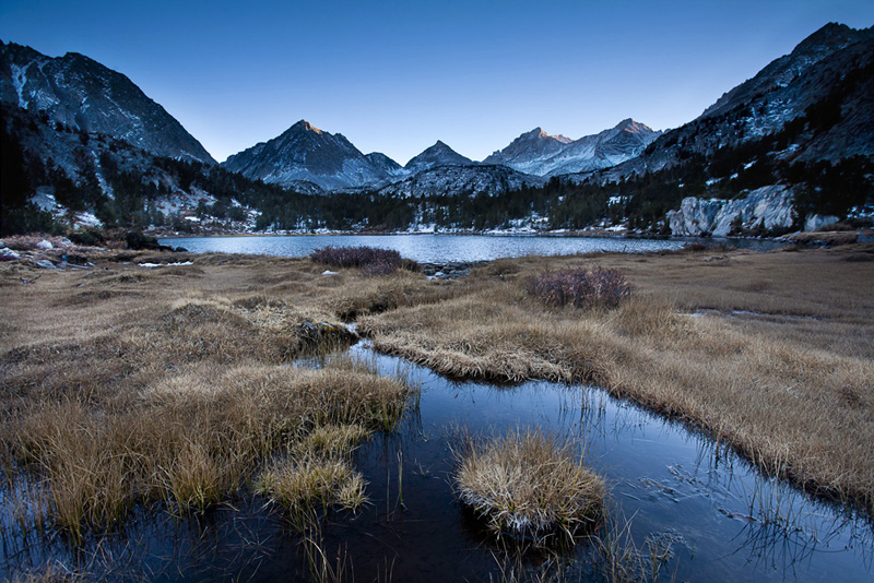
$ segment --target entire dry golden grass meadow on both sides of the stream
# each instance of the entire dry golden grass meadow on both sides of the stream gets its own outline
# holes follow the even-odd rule
[[[36,272],[0,266],[0,451],[8,473],[46,476],[35,522],[111,524],[143,500],[204,508],[273,452],[354,447],[323,428],[392,427],[401,384],[344,362],[287,366],[349,342],[353,317],[379,349],[441,372],[594,381],[813,490],[874,500],[874,246],[601,254],[635,286],[612,311],[528,297],[527,277],[591,262],[579,257],[450,282],[321,275],[306,259],[121,259],[31,284]]]

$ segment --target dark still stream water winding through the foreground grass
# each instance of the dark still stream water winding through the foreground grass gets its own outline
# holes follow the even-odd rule
[[[376,356],[366,344],[352,353],[373,359],[385,374],[406,376],[422,392],[397,431],[375,436],[355,454],[371,504],[357,515],[329,513],[315,535],[331,564],[340,557],[345,581],[509,579],[507,556],[453,497],[448,445],[459,427],[492,433],[535,426],[579,444],[587,463],[605,476],[611,513],[621,525],[623,516],[628,521],[637,547],[647,537],[672,543],[665,580],[874,576],[874,531],[864,516],[764,477],[705,437],[598,388],[457,383]],[[78,552],[56,539],[51,556],[121,579],[306,581],[299,535],[281,513],[259,504],[235,502],[201,517],[143,513]],[[4,543],[0,573],[43,562],[47,552],[45,544]],[[558,561],[528,556],[521,564],[527,578],[545,570],[560,572],[560,581],[599,581],[592,555],[581,543]]]

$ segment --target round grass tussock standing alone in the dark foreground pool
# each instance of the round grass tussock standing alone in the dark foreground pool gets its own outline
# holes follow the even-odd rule
[[[592,526],[602,512],[604,480],[540,430],[516,431],[457,452],[459,499],[497,533],[545,543]]]

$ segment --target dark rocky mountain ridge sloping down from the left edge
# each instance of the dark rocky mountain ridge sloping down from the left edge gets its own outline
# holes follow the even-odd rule
[[[167,111],[127,76],[76,52],[51,58],[0,41],[0,100],[85,133],[158,156],[215,164]]]

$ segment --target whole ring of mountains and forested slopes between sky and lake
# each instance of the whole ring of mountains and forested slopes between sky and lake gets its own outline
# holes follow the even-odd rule
[[[576,140],[534,128],[482,162],[438,140],[401,165],[300,120],[218,164],[123,74],[0,41],[0,230],[781,235],[870,223],[872,95],[874,27],[832,23],[664,132],[630,118]]]

